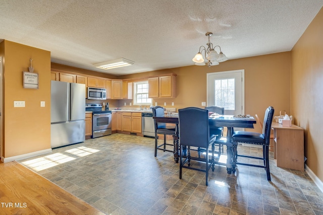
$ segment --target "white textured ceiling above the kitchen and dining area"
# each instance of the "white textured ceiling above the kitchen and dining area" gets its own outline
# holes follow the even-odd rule
[[[0,39],[114,75],[193,65],[213,32],[229,59],[290,51],[323,0],[2,0]],[[127,58],[132,66],[92,64]],[[37,59],[33,59],[37,60]]]

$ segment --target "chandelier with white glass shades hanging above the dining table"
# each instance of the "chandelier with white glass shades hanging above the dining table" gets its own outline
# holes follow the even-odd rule
[[[208,36],[208,42],[206,43],[207,48],[205,48],[204,46],[200,46],[198,53],[192,59],[195,62],[195,65],[207,65],[208,67],[210,67],[211,65],[219,65],[219,62],[224,62],[228,60],[228,57],[221,51],[221,47],[219,45],[213,47],[213,44],[210,42],[210,36],[212,36],[212,34],[212,32],[207,32],[205,34],[205,36]],[[214,50],[214,48],[216,47],[220,48],[219,54],[216,50]],[[203,51],[205,58],[201,54],[201,52]]]

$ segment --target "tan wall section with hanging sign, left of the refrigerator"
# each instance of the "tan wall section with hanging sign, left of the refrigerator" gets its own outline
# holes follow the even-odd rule
[[[4,152],[5,158],[50,149],[50,52],[3,41],[4,45]],[[3,53],[3,50],[2,50]],[[32,58],[39,89],[23,88],[23,71]],[[14,101],[25,107],[14,108]],[[40,107],[45,101],[45,107]]]

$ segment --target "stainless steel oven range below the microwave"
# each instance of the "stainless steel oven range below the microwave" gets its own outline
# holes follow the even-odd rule
[[[105,108],[106,109],[106,108]],[[102,110],[101,104],[85,104],[85,111],[92,111],[92,135],[91,138],[110,135],[112,112]]]

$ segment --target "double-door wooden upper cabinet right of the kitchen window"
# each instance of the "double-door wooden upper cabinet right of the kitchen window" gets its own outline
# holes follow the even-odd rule
[[[148,79],[149,98],[175,98],[176,75],[153,77]]]

